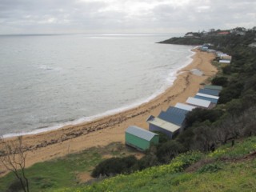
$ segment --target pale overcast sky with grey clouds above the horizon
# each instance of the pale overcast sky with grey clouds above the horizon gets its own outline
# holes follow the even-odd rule
[[[256,26],[256,0],[0,0],[0,34],[172,34]]]

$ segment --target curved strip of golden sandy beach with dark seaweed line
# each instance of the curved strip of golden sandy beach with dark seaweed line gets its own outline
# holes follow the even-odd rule
[[[27,155],[26,166],[76,153],[92,146],[124,142],[125,130],[130,125],[148,129],[146,118],[150,114],[157,116],[161,110],[166,110],[177,102],[185,102],[186,98],[194,96],[198,92],[202,82],[217,73],[217,69],[210,63],[214,54],[194,51],[193,62],[178,72],[178,78],[174,85],[150,102],[93,122],[64,126],[58,130],[23,136],[23,145]],[[195,68],[202,70],[204,75],[191,74],[190,70]],[[7,173],[2,165],[0,165],[0,170],[0,176]]]

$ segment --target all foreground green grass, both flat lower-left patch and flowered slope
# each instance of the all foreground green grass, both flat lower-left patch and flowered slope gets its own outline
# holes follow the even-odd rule
[[[234,146],[227,143],[210,154],[196,151],[180,154],[168,165],[120,174],[91,185],[79,180],[78,174],[89,173],[104,155],[122,157],[134,152],[120,143],[112,143],[104,148],[94,147],[81,154],[37,163],[26,173],[32,192],[255,191],[256,158],[244,159],[253,151],[256,151],[256,137],[237,140]],[[0,178],[0,191],[5,191],[12,179],[11,174]]]

